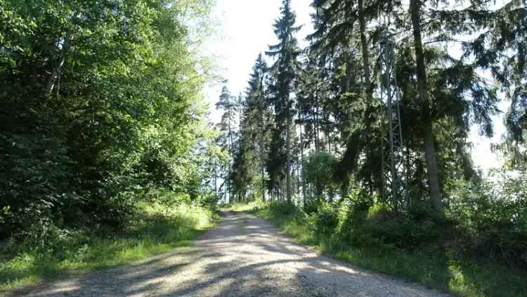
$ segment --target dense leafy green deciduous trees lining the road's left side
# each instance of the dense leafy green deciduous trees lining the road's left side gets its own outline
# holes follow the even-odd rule
[[[211,4],[0,0],[0,240],[206,202]]]

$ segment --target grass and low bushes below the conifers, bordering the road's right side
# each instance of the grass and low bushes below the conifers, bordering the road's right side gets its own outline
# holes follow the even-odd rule
[[[386,217],[376,220],[382,210],[370,209],[363,217],[349,217],[341,208],[328,208],[331,206],[320,206],[311,214],[282,203],[252,203],[230,209],[271,220],[320,253],[455,296],[527,296],[526,271],[441,247],[434,241],[434,224],[427,220],[405,224]],[[403,234],[407,236],[399,242],[396,236]],[[409,246],[403,246],[405,242],[410,242]]]

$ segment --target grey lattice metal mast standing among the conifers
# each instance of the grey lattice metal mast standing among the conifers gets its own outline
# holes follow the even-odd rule
[[[384,30],[380,43],[380,92],[384,106],[384,132],[382,144],[382,186],[383,198],[393,210],[408,205],[406,187],[405,156],[403,151],[403,131],[399,110],[400,93],[397,87],[394,61],[395,41]]]

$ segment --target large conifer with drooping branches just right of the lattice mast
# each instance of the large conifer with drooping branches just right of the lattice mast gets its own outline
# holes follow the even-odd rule
[[[479,44],[479,37],[463,43],[460,58],[444,47],[457,42],[457,36],[484,28],[486,2],[470,4],[453,10],[432,1],[410,1],[412,43],[399,46],[397,76],[403,91],[403,134],[413,156],[421,158],[417,152],[419,146],[423,148],[429,196],[438,215],[443,209],[441,183],[447,181],[446,175],[453,175],[446,173],[445,165],[456,158],[467,159],[464,148],[471,124],[479,125],[481,134],[492,135],[490,115],[497,112],[496,89],[480,73],[493,62],[470,58],[475,53],[477,56],[478,50],[469,44]],[[429,15],[426,25],[422,15]],[[449,152],[452,146],[458,149]],[[471,162],[460,165],[464,172],[474,172]]]

